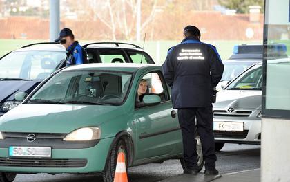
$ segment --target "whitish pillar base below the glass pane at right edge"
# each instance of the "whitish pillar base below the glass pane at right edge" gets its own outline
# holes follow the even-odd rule
[[[261,181],[290,181],[290,120],[262,118]]]

